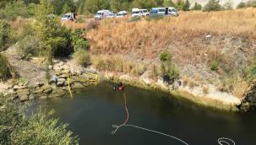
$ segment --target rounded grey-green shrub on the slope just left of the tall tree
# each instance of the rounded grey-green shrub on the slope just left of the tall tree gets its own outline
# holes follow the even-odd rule
[[[25,36],[25,38],[19,41],[18,54],[21,59],[27,60],[30,56],[38,54],[39,40],[32,35]]]

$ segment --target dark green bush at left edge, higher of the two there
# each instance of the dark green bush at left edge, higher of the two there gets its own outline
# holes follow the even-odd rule
[[[11,26],[6,20],[0,19],[0,51],[4,51],[8,47],[11,40]]]

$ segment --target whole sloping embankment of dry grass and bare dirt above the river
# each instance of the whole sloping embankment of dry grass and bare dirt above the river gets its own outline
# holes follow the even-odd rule
[[[148,78],[157,82],[160,75],[150,75],[152,67],[159,72],[159,55],[168,50],[180,73],[181,91],[239,105],[248,90],[242,69],[256,56],[255,13],[256,8],[247,8],[188,12],[160,20],[107,20],[90,30],[87,39],[95,67],[101,71],[131,76],[138,65],[127,63],[134,62],[144,66],[138,68],[139,77],[149,73]],[[117,55],[122,57],[120,61]],[[113,60],[120,67],[104,63],[115,64]]]

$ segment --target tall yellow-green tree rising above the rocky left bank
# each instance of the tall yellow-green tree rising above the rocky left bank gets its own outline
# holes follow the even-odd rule
[[[41,0],[35,13],[35,31],[40,40],[40,53],[51,63],[53,56],[67,56],[72,51],[70,30],[52,15],[52,3]]]

